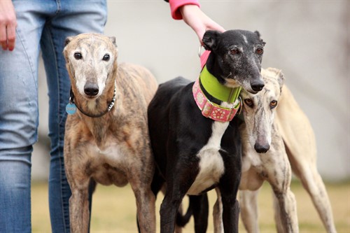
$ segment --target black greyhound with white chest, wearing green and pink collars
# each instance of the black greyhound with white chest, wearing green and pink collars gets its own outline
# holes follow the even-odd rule
[[[201,203],[207,203],[202,202],[207,198],[203,194],[213,188],[223,203],[225,232],[238,232],[241,140],[239,120],[233,117],[241,105],[240,88],[257,93],[264,86],[260,69],[265,42],[258,31],[243,30],[207,31],[202,41],[211,54],[200,78],[191,83],[179,77],[161,84],[148,106],[158,169],[153,192],[166,183],[162,233],[174,232],[186,194],[196,208],[195,231],[205,232],[208,213]]]

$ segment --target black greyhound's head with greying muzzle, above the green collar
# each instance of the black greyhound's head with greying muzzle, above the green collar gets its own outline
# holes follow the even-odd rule
[[[240,85],[254,94],[262,90],[260,70],[265,42],[258,31],[206,31],[202,41],[204,48],[211,50],[208,62],[213,67],[208,69],[221,83]]]

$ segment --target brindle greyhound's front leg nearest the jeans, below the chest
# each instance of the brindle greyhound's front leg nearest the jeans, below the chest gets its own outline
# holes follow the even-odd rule
[[[87,233],[89,228],[89,195],[88,188],[71,188],[69,199],[69,216],[72,233]]]

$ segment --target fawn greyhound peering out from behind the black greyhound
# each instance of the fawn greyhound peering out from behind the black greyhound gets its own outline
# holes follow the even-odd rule
[[[281,71],[262,71],[264,89],[256,96],[241,92],[245,125],[241,126],[244,157],[239,197],[244,226],[248,232],[259,230],[257,188],[265,180],[274,192],[278,232],[297,231],[295,201],[288,187],[291,167],[309,192],[327,232],[336,232],[330,201],[316,167],[311,124],[290,90],[281,86]],[[274,110],[277,101],[279,106]]]

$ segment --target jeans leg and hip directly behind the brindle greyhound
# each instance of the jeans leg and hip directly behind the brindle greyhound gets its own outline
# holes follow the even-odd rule
[[[41,50],[48,80],[50,177],[49,204],[52,232],[69,232],[71,190],[64,170],[64,125],[70,81],[62,54],[64,40],[86,32],[102,33],[106,24],[106,1],[57,1],[57,13],[45,24]]]

